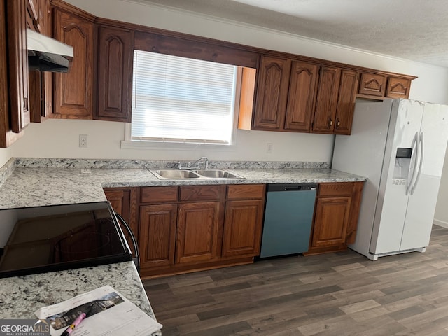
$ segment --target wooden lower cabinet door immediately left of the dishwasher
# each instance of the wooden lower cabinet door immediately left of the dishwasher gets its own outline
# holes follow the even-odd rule
[[[223,257],[260,254],[263,205],[261,200],[225,204]]]

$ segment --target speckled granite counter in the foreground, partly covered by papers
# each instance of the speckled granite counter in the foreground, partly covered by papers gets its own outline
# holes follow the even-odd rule
[[[132,261],[0,279],[0,318],[36,318],[34,311],[41,307],[105,285],[111,285],[155,318]]]

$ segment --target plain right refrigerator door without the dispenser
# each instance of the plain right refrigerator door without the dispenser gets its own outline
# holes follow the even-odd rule
[[[423,164],[414,193],[409,196],[401,250],[429,244],[448,141],[448,106],[425,104],[420,137]]]

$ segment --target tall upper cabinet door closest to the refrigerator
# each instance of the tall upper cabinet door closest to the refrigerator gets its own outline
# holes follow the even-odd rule
[[[342,70],[339,98],[337,100],[335,134],[349,135],[351,133],[357,88],[358,73],[356,71]]]

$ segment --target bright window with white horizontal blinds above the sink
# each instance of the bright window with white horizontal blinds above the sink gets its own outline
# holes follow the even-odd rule
[[[133,141],[231,144],[237,66],[134,50]]]

